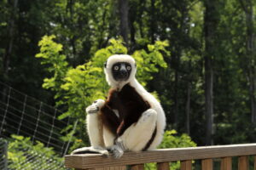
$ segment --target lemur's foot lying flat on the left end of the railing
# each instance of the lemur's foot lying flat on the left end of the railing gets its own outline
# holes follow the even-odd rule
[[[108,150],[100,146],[83,147],[83,148],[73,150],[73,152],[71,152],[71,155],[77,155],[77,154],[102,154],[103,156],[109,155]]]

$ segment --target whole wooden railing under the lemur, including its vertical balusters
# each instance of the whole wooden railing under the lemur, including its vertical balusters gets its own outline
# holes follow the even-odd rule
[[[142,170],[144,163],[157,162],[158,170],[167,170],[175,161],[181,161],[181,170],[191,170],[193,160],[201,160],[202,170],[212,170],[213,159],[220,159],[221,170],[232,169],[232,157],[238,156],[238,170],[248,170],[248,156],[253,157],[256,170],[256,144],[232,144],[194,148],[162,149],[143,152],[125,152],[119,159],[96,154],[65,156],[66,167],[90,170]]]

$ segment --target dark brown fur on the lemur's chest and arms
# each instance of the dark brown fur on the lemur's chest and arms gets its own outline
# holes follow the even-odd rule
[[[148,101],[137,93],[136,89],[126,84],[121,91],[110,89],[108,99],[102,107],[102,122],[104,126],[121,136],[125,130],[142,116],[144,111],[150,108]],[[119,117],[112,110],[119,111]]]

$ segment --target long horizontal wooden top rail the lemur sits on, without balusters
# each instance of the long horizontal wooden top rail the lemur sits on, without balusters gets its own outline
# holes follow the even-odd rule
[[[80,169],[143,164],[149,162],[212,159],[229,156],[256,155],[256,144],[231,144],[195,148],[125,152],[119,159],[98,154],[65,156],[66,167]]]

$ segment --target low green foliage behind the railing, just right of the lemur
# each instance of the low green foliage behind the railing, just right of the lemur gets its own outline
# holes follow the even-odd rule
[[[183,133],[180,136],[177,136],[176,130],[166,131],[164,134],[164,138],[159,149],[165,148],[184,148],[184,147],[195,147],[196,144],[191,140],[188,134]],[[156,169],[154,163],[148,163],[145,165],[146,169],[153,170]],[[180,169],[180,161],[176,163],[172,162],[170,164],[170,169],[177,170]]]

